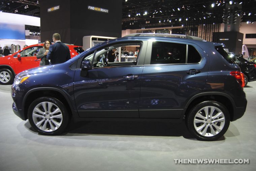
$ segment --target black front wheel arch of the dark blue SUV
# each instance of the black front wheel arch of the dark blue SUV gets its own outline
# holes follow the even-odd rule
[[[67,111],[70,115],[76,114],[76,110],[74,110],[70,99],[62,90],[58,88],[51,88],[51,87],[40,87],[40,88],[34,88],[29,90],[24,96],[22,106],[25,114],[25,119],[28,119],[28,116],[26,114],[28,113],[28,109],[31,102],[37,98],[45,97],[45,96],[57,98],[66,106]]]

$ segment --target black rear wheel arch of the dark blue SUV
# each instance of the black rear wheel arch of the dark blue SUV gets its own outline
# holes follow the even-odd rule
[[[233,121],[234,118],[234,101],[233,99],[226,93],[222,92],[204,92],[197,94],[190,98],[190,100],[187,102],[183,116],[187,116],[189,111],[198,103],[206,101],[206,100],[214,100],[222,103],[228,110],[230,115],[230,121]]]

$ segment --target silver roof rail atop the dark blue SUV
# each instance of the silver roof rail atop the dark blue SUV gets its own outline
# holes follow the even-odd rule
[[[177,34],[156,34],[156,33],[134,33],[129,34],[124,37],[139,37],[139,36],[159,36],[159,37],[178,37],[178,38],[185,38],[185,39],[193,39],[193,40],[201,40],[205,41],[199,37],[195,36],[186,36],[186,35],[177,35]]]

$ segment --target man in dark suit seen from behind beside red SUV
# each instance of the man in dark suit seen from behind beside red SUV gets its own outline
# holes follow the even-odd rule
[[[54,44],[49,47],[49,52],[46,56],[46,59],[51,60],[51,64],[63,63],[69,60],[70,52],[69,48],[60,41],[60,34],[53,34]]]

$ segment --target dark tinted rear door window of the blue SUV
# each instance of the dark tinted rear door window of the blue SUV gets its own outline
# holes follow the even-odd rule
[[[186,45],[169,42],[153,42],[151,64],[186,62]]]

